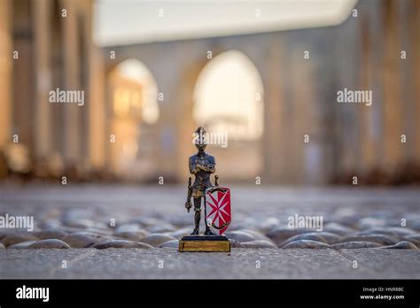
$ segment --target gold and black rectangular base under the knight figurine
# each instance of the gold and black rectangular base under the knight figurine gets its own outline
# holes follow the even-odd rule
[[[179,241],[180,252],[230,252],[230,242],[224,235],[186,235]]]

